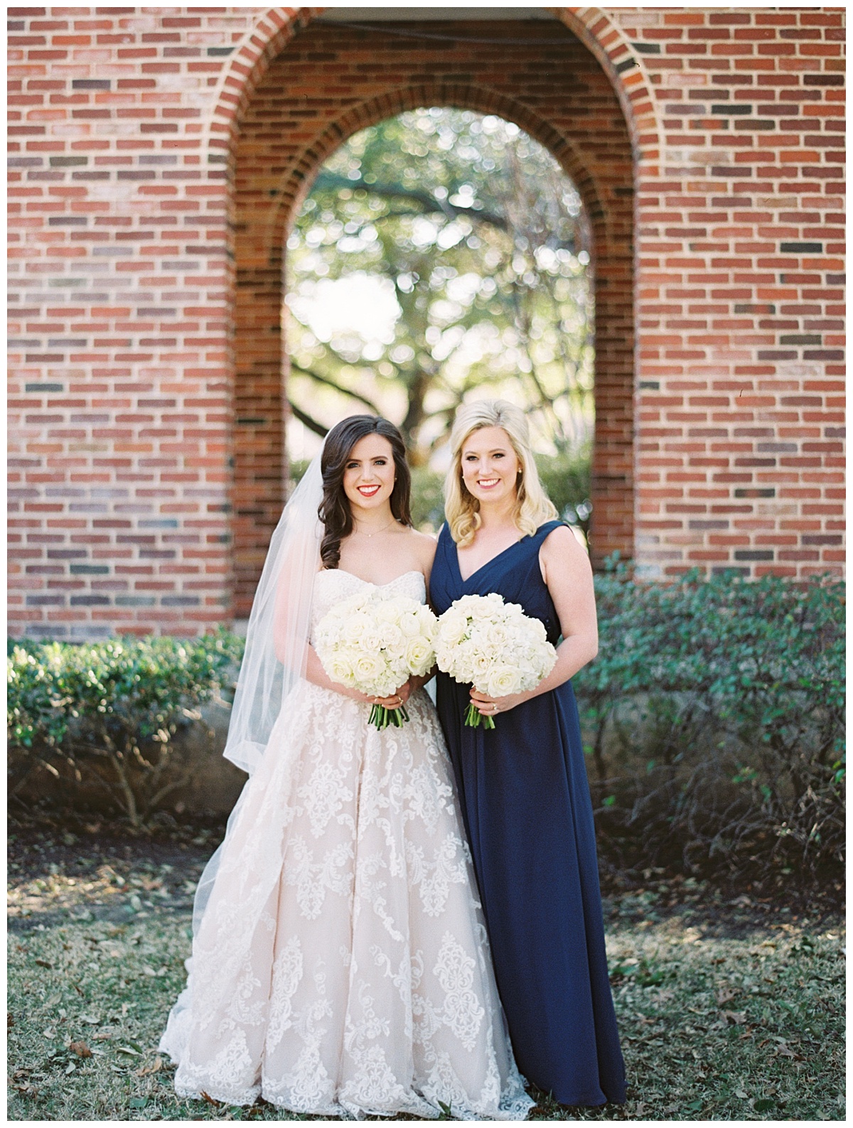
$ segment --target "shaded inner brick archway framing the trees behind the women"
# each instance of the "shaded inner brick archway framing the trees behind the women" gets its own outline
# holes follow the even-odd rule
[[[572,19],[584,37],[592,34],[578,17]],[[354,32],[332,23],[313,23],[292,35],[282,21],[273,34],[278,53],[270,46],[272,39],[263,51],[256,44],[254,73],[244,64],[247,77],[239,99],[232,96],[231,123],[239,120],[239,129],[230,149],[237,617],[248,611],[284,500],[287,373],[280,309],[287,228],[320,165],[348,136],[421,105],[451,105],[515,121],[554,153],[581,192],[595,243],[593,556],[600,561],[616,548],[632,552],[637,124],[634,120],[628,130],[623,105],[631,94],[623,90],[621,104],[612,76],[566,29],[572,19],[416,25],[433,34],[451,30],[459,39],[501,41],[459,45]],[[275,20],[269,16],[267,23]],[[548,38],[553,45],[524,44],[533,38]],[[612,69],[608,50],[618,58],[621,44],[592,38],[596,54]]]

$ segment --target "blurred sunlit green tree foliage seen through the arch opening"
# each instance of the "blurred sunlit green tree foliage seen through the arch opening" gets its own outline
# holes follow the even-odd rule
[[[288,243],[297,417],[322,434],[344,412],[381,412],[419,465],[487,388],[529,412],[543,452],[588,448],[589,243],[573,185],[509,122],[431,108],[362,130]],[[342,280],[388,311],[384,340],[324,321]]]

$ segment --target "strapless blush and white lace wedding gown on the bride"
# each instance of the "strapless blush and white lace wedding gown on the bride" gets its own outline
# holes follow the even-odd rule
[[[320,572],[313,625],[364,585]],[[419,572],[384,588],[424,600]],[[160,1041],[178,1094],[525,1119],[438,717],[423,690],[407,711],[379,732],[308,681],[285,700]]]

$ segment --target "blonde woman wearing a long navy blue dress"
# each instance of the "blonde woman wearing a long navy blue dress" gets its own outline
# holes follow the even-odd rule
[[[519,1069],[561,1104],[625,1100],[607,978],[595,827],[569,680],[598,650],[592,572],[556,518],[507,400],[461,408],[450,438],[447,523],[430,583],[438,614],[496,591],[542,619],[553,671],[527,693],[489,697],[447,675],[438,711],[474,855],[498,989]],[[468,700],[495,717],[466,728]]]

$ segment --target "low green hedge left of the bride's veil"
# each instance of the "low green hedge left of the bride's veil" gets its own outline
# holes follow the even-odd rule
[[[7,722],[12,794],[35,768],[100,784],[133,826],[186,782],[170,768],[178,728],[200,721],[236,672],[243,641],[10,642]]]

